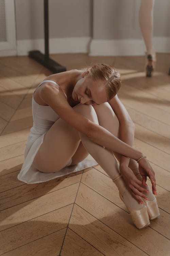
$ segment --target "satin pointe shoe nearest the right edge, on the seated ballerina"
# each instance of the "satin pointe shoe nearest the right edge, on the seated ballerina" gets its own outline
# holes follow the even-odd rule
[[[138,180],[141,180],[141,175],[139,172],[134,172],[134,174],[136,175]],[[147,188],[146,186],[143,186],[143,187]],[[150,190],[149,186],[148,186],[148,190]],[[151,190],[150,190],[150,193],[152,193]],[[144,201],[147,207],[148,215],[151,220],[157,218],[160,215],[156,197],[153,194],[152,196],[154,198],[153,200],[146,200],[145,198],[142,198],[142,200]]]

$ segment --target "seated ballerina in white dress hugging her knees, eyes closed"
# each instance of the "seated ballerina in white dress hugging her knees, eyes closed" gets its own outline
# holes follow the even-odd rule
[[[99,164],[136,227],[143,228],[159,215],[155,174],[146,156],[132,147],[134,124],[117,96],[120,86],[119,72],[106,64],[46,77],[33,94],[34,123],[18,179],[44,182]]]

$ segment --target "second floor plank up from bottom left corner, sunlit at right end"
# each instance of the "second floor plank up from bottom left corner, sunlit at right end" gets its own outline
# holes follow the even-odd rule
[[[32,218],[24,223],[17,223],[18,225],[15,227],[1,231],[0,253],[14,250],[19,246],[31,243],[34,240],[66,228],[72,208],[73,204],[57,210],[55,208],[53,211],[43,215],[39,213],[40,215],[38,217]]]

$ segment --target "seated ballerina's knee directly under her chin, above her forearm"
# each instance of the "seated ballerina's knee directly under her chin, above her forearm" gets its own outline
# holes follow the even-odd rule
[[[92,107],[92,105],[78,104],[78,105],[76,105],[74,107],[74,110],[76,112],[78,112],[79,114],[81,114],[81,115],[85,116],[86,118],[88,118],[91,122],[99,124],[96,111]]]

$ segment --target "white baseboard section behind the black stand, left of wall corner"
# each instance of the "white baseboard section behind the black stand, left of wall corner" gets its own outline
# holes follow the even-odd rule
[[[52,38],[49,40],[49,53],[87,53],[90,37]],[[17,55],[28,55],[29,51],[44,53],[44,39],[18,40]]]

